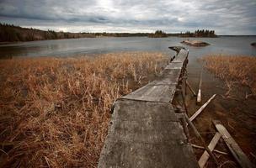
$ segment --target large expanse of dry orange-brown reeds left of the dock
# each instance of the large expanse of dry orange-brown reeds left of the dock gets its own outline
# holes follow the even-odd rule
[[[166,61],[139,52],[0,60],[0,167],[95,167],[111,104]]]

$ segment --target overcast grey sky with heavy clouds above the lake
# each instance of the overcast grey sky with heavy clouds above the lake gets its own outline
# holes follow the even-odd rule
[[[69,32],[256,34],[256,0],[0,0],[0,22]]]

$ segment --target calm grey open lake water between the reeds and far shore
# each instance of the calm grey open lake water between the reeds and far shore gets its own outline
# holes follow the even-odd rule
[[[186,38],[187,39],[187,38]],[[190,38],[200,39],[200,38]],[[184,38],[170,37],[152,39],[147,37],[125,38],[83,38],[33,41],[8,45],[0,45],[0,57],[5,56],[70,56],[83,54],[99,54],[118,51],[162,51],[171,52],[168,46],[182,45]],[[209,53],[256,55],[256,48],[251,46],[256,42],[256,36],[250,37],[220,37],[201,39],[211,45],[206,47],[192,47],[189,55],[198,57]],[[190,57],[191,58],[191,57]]]

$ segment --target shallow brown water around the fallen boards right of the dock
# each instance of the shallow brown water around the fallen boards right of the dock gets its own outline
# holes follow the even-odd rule
[[[256,109],[256,98],[246,98],[247,93],[250,92],[248,87],[239,84],[233,85],[235,83],[230,87],[230,85],[227,85],[227,82],[217,77],[205,67],[201,69],[201,66],[205,66],[205,63],[201,59],[192,62],[192,64],[191,61],[188,64],[188,81],[195,91],[197,91],[198,88],[200,71],[203,70],[201,88],[202,104],[204,104],[212,95],[217,94],[216,98],[195,119],[195,127],[199,130],[208,144],[213,138],[216,130],[211,121],[213,119],[221,120],[221,123],[224,124],[229,133],[232,134],[232,137],[237,141],[237,144],[242,148],[243,152],[248,155],[248,158],[255,165],[256,159],[251,154],[254,154],[253,152],[256,150],[256,145],[253,143],[254,139],[256,139],[256,121],[253,119],[255,118],[255,116],[253,117],[253,112],[254,109]],[[189,104],[189,115],[191,116],[202,104],[196,105],[195,97],[191,95],[186,97],[186,100]],[[192,143],[200,145],[200,141],[197,139],[193,139]],[[216,150],[230,153],[223,141],[217,144]],[[204,151],[195,148],[194,151],[199,160]],[[238,167],[232,155],[220,156],[221,161],[228,161],[229,164],[231,164],[229,166]],[[210,160],[207,167],[213,168],[216,167],[216,165],[213,160]]]

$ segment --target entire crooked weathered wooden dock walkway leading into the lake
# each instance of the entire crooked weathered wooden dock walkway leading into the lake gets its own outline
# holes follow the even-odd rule
[[[99,168],[199,167],[172,105],[188,54],[178,49],[162,76],[115,102]]]

